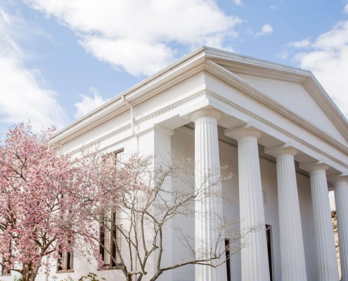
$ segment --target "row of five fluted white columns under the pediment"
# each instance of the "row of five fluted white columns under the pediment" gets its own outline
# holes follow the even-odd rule
[[[219,141],[217,122],[221,113],[214,109],[203,109],[190,116],[195,122],[195,183],[196,189],[207,188],[204,176],[219,168]],[[269,281],[269,259],[267,256],[264,202],[262,197],[259,151],[257,140],[262,132],[253,127],[227,129],[225,135],[238,141],[238,178],[240,229],[247,231],[258,226],[261,231],[245,234],[247,247],[241,249],[241,271],[243,281]],[[276,157],[278,183],[278,209],[281,235],[281,270],[283,281],[307,281],[304,242],[299,210],[299,197],[295,174],[294,156],[297,150],[289,145],[266,148],[265,152]],[[309,171],[311,197],[314,211],[316,261],[319,281],[338,281],[335,240],[331,222],[328,183],[325,164],[300,164]],[[219,174],[214,174],[219,177]],[[214,179],[213,179],[214,180]],[[347,178],[335,180],[337,226],[340,240],[342,281],[348,281],[348,182]],[[221,193],[221,184],[212,185],[214,193]],[[211,253],[212,243],[217,240],[216,220],[222,215],[219,199],[198,200],[195,203],[196,253],[201,257]],[[219,259],[215,261],[219,263]],[[195,266],[195,280],[226,280],[222,267]]]

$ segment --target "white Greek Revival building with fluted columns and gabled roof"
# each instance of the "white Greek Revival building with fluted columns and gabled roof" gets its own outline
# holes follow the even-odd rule
[[[198,48],[53,141],[73,152],[99,143],[110,152],[163,157],[184,148],[199,171],[228,166],[233,178],[221,186],[231,198],[224,216],[240,221],[240,229],[266,229],[250,233],[228,265],[184,266],[158,280],[348,281],[348,122],[307,70]],[[335,191],[342,277],[329,190]],[[179,223],[204,240],[215,235],[202,227],[205,219]],[[174,234],[167,247],[167,263],[184,258]],[[70,273],[54,275],[78,279],[88,272],[125,280],[120,270],[97,271],[77,257]]]

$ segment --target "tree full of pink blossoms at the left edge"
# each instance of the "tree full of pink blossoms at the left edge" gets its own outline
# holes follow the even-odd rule
[[[59,252],[72,251],[77,233],[94,230],[67,192],[77,185],[76,171],[70,155],[49,143],[53,131],[37,134],[18,124],[0,145],[0,265],[3,274],[15,270],[24,281]]]

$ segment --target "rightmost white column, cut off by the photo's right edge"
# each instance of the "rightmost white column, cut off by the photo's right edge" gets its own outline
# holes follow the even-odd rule
[[[334,183],[337,214],[338,242],[342,281],[348,281],[348,183],[347,179]]]

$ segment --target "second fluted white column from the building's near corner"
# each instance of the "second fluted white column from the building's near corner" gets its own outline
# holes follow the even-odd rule
[[[256,231],[245,235],[246,245],[241,249],[242,280],[269,281],[264,201],[257,147],[257,138],[262,133],[257,129],[246,128],[226,130],[225,134],[238,141],[240,231],[243,234],[250,228],[257,227]]]

